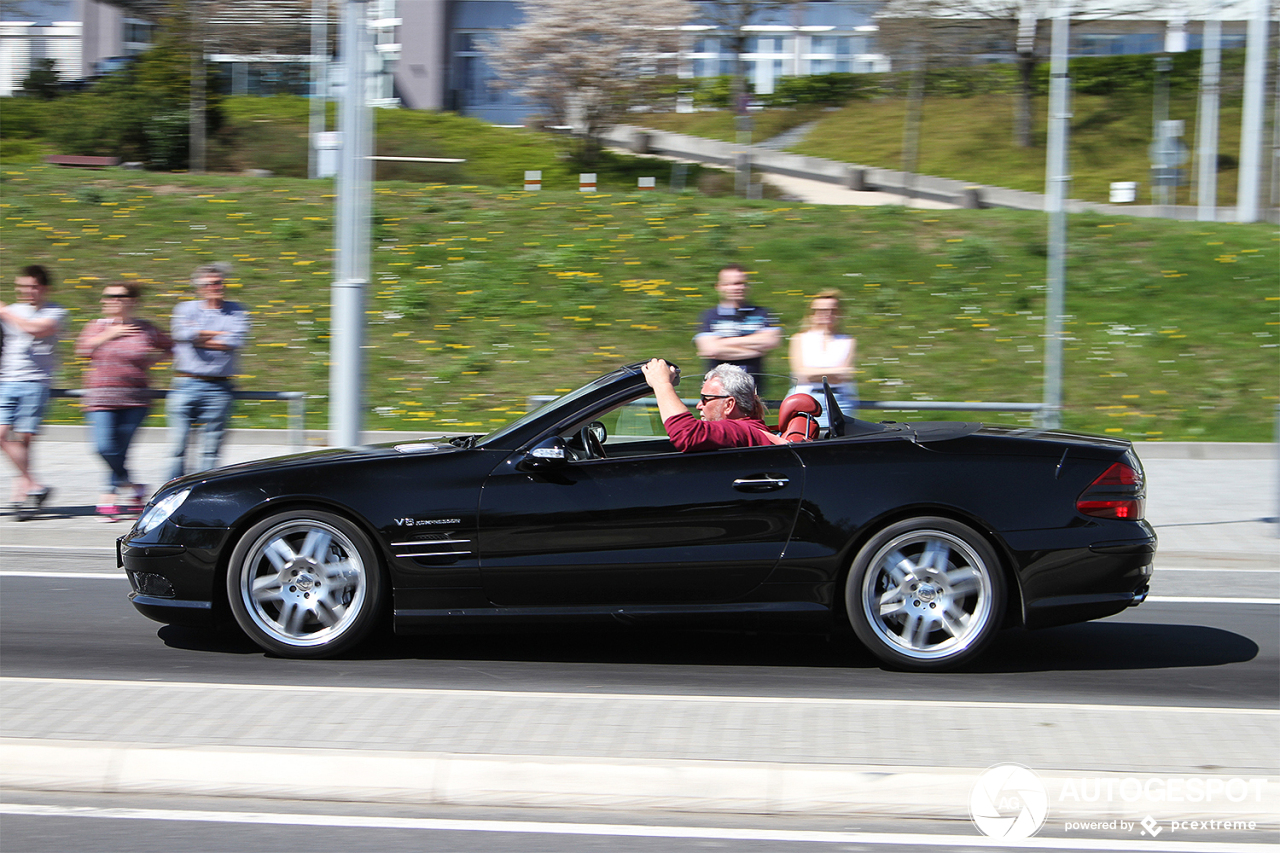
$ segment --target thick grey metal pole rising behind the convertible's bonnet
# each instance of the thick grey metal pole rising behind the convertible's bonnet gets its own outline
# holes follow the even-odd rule
[[[361,443],[365,289],[369,286],[371,160],[365,97],[367,0],[347,0],[342,19],[342,152],[338,163],[337,263],[330,297],[329,443]]]

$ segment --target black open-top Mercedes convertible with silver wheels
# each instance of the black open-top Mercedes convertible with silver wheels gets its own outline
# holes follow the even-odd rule
[[[161,622],[234,620],[287,657],[344,652],[384,617],[398,633],[809,620],[940,670],[1001,628],[1147,594],[1156,537],[1126,441],[873,424],[828,394],[813,439],[680,453],[640,366],[488,435],[173,480],[118,543],[129,598]]]

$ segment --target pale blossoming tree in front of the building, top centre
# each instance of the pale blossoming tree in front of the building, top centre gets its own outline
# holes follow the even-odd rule
[[[687,0],[522,0],[524,22],[485,46],[498,85],[568,124],[590,165],[600,136],[645,101],[675,65]]]

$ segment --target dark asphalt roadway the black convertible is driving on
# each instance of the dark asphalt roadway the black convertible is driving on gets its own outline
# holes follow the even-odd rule
[[[946,674],[887,671],[851,638],[622,628],[384,637],[337,661],[285,661],[233,631],[143,619],[123,576],[68,573],[58,555],[28,557],[20,570],[58,574],[0,578],[9,678],[1231,708],[1274,708],[1280,695],[1276,608],[1247,599],[1147,602],[1083,625],[1010,630]],[[1221,592],[1212,575],[1203,583]]]

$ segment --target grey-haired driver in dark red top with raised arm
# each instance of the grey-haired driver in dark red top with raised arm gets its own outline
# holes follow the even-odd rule
[[[662,359],[650,359],[640,370],[658,398],[662,425],[676,450],[687,453],[783,443],[764,425],[764,403],[755,393],[751,374],[742,368],[722,364],[707,373],[698,402],[701,420],[694,418],[676,393],[675,368]]]

